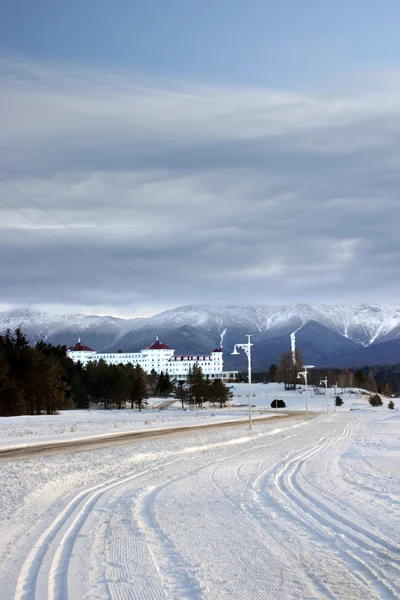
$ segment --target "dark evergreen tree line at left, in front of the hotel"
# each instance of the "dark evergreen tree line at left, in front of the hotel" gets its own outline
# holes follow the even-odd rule
[[[104,360],[83,366],[67,356],[66,346],[44,341],[30,346],[20,329],[0,336],[0,416],[54,414],[62,409],[126,406],[142,410],[146,398],[175,396],[200,407],[223,406],[229,390],[221,380],[208,381],[195,366],[188,381],[171,381],[168,373],[147,375],[140,365],[109,365]]]

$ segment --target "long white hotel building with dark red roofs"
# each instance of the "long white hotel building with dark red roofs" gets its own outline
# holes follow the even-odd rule
[[[153,369],[157,373],[168,373],[171,379],[186,381],[189,369],[194,365],[201,367],[206,379],[223,379],[234,381],[238,371],[223,370],[222,349],[216,348],[208,355],[176,356],[175,350],[161,343],[158,339],[139,352],[106,352],[98,353],[88,346],[78,343],[67,350],[68,356],[74,362],[86,365],[88,362],[104,360],[109,365],[132,364],[140,365],[149,374]]]

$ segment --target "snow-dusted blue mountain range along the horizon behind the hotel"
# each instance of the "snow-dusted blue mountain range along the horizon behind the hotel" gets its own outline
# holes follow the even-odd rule
[[[246,356],[232,356],[252,332],[254,370],[265,370],[291,347],[306,363],[357,367],[400,363],[400,305],[182,306],[152,317],[52,315],[29,309],[0,312],[0,332],[20,327],[31,343],[74,344],[78,337],[98,352],[136,351],[156,337],[177,354],[224,351],[227,369],[244,370]]]

